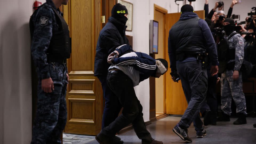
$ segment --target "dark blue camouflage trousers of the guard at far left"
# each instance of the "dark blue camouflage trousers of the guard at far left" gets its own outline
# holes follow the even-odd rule
[[[37,113],[32,130],[31,144],[61,144],[60,135],[67,121],[66,65],[49,63],[54,90],[45,93],[38,82]]]

